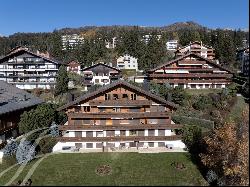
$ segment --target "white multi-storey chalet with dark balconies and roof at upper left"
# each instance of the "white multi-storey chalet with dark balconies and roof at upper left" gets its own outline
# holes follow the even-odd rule
[[[19,48],[0,59],[0,80],[20,89],[50,89],[61,62]]]

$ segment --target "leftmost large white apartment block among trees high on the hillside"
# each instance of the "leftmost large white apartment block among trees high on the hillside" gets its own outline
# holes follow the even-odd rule
[[[77,45],[83,44],[84,37],[78,34],[67,34],[61,36],[62,50],[74,49]]]

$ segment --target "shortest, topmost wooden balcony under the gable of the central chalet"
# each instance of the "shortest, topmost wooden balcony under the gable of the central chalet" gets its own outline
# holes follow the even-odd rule
[[[90,106],[148,106],[151,105],[151,101],[147,100],[100,100],[90,101]]]

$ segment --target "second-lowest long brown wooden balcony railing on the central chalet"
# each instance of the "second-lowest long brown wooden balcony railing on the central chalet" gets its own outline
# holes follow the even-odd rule
[[[59,130],[140,130],[140,129],[180,129],[181,124],[140,124],[140,125],[61,125]]]

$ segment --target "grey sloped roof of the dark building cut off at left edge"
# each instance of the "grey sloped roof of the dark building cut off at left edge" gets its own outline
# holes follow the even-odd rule
[[[0,81],[0,116],[43,103],[44,101],[24,90]]]

